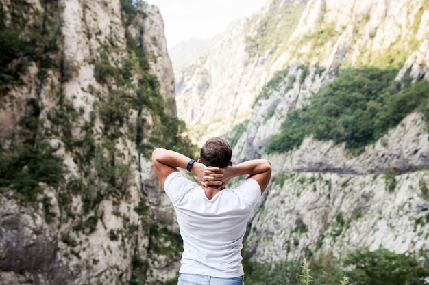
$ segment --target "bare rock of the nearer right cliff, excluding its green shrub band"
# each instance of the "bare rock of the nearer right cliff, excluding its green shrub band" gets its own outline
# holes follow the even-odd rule
[[[358,20],[350,22],[369,12],[363,27]],[[404,22],[404,18],[410,21],[409,15],[421,12],[421,1],[308,3],[291,43],[323,23],[334,23],[337,42],[326,42],[314,59],[323,62],[326,70],[320,73],[310,65],[306,79],[298,82],[302,68],[289,65],[283,81],[255,104],[247,130],[234,149],[237,160],[265,156],[265,144],[278,133],[284,114],[305,105],[306,98],[334,79],[341,64],[399,48],[393,44],[394,38],[402,39],[403,49],[410,49],[407,40],[413,37],[419,42],[408,53],[397,80],[404,77],[405,70],[410,74],[412,66],[419,66],[413,71],[415,79],[427,78],[428,39],[419,35],[428,34],[424,25],[428,11],[415,17],[414,25],[419,28],[414,34],[409,29],[412,24]],[[403,23],[402,29],[397,23]],[[353,26],[360,26],[360,33],[355,34]],[[305,59],[306,53],[314,54],[310,46],[304,44],[295,56]],[[419,64],[411,63],[413,60]],[[428,154],[427,124],[421,114],[411,113],[358,157],[342,145],[312,137],[288,154],[271,155],[273,182],[264,211],[252,222],[247,250],[260,262],[297,260],[308,254],[341,258],[358,247],[419,254],[429,246],[428,223],[415,223],[428,213],[428,173],[422,170],[428,167]]]

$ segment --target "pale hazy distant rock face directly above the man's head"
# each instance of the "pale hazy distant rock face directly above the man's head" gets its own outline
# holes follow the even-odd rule
[[[267,78],[267,58],[250,58],[245,51],[247,23],[240,21],[224,33],[206,58],[175,71],[177,114],[195,143],[243,121]]]

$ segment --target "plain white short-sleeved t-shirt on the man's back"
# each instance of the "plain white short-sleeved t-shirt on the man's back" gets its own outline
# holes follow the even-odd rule
[[[183,239],[180,273],[221,278],[243,275],[242,242],[247,220],[261,196],[258,182],[249,178],[209,200],[200,185],[173,172],[164,190],[175,207]]]

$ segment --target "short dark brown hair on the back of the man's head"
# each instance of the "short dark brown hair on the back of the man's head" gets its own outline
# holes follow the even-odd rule
[[[232,149],[228,141],[220,137],[211,137],[201,148],[201,163],[206,166],[227,167],[230,165]]]

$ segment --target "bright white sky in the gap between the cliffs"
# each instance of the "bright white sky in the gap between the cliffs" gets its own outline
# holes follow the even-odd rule
[[[191,38],[213,38],[236,19],[251,16],[268,0],[147,0],[164,19],[167,47]]]

